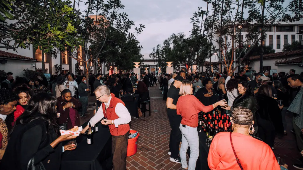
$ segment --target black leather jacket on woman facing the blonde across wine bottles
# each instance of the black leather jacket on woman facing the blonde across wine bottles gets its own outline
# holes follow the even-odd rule
[[[248,108],[249,110],[251,110],[253,116],[254,116],[254,121],[255,124],[254,126],[258,126],[257,122],[256,122],[256,100],[255,97],[252,95],[244,95],[242,96],[241,94],[239,96],[237,96],[234,100],[234,103],[232,103],[232,107],[238,107],[238,106],[243,106]]]

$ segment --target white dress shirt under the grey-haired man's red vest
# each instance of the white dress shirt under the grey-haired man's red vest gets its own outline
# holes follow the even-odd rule
[[[105,104],[105,110],[109,107],[110,101],[112,99],[112,96],[110,96],[108,103]],[[115,113],[119,117],[118,119],[114,120],[115,127],[117,128],[119,125],[127,124],[129,123],[132,118],[126,107],[122,103],[117,103],[115,107]],[[103,109],[98,109],[95,116],[93,116],[88,123],[91,123],[91,126],[95,126],[96,123],[98,123],[102,118],[104,117]]]

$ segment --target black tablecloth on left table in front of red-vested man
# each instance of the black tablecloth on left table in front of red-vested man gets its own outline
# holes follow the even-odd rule
[[[84,127],[88,122],[84,124]],[[108,126],[98,124],[98,133],[94,133],[94,143],[87,144],[86,136],[76,138],[77,148],[62,153],[62,170],[111,170],[112,138]]]

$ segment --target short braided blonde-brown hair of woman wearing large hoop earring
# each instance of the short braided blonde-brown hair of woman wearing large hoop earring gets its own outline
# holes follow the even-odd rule
[[[231,111],[231,117],[235,124],[245,127],[249,127],[253,120],[253,114],[251,110],[243,106],[233,108]]]

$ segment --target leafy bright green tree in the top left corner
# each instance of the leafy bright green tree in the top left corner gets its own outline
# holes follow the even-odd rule
[[[42,56],[53,48],[77,46],[76,29],[80,23],[71,6],[62,0],[1,1],[0,48],[30,48],[42,50]],[[44,73],[44,57],[42,72]]]

